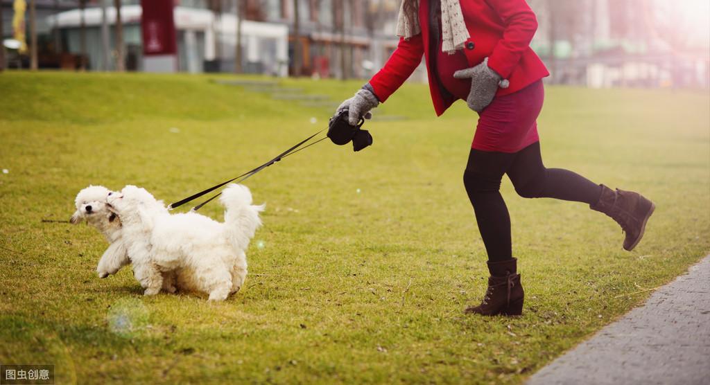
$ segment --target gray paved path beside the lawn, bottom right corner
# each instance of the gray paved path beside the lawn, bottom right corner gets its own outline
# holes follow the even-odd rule
[[[710,256],[527,384],[710,384]]]

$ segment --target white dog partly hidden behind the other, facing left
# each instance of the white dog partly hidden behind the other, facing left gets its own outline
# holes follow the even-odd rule
[[[101,278],[116,274],[121,267],[131,263],[128,250],[121,238],[121,220],[115,213],[109,211],[106,205],[109,194],[111,191],[104,186],[88,186],[79,191],[74,201],[77,211],[70,219],[70,222],[75,225],[87,221],[109,241],[109,248],[102,255],[97,266],[97,273]]]

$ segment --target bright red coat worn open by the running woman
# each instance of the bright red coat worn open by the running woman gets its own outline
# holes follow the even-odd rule
[[[530,49],[537,18],[525,0],[461,0],[461,12],[471,35],[464,43],[469,66],[479,65],[488,57],[488,67],[510,81],[510,87],[498,89],[496,96],[512,94],[550,74]],[[419,23],[422,33],[409,40],[400,38],[397,49],[370,84],[378,99],[386,101],[410,77],[424,55],[434,109],[440,116],[456,99],[441,93],[439,77],[432,73],[429,0],[420,0]]]

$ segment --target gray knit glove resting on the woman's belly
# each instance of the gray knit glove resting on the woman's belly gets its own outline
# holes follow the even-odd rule
[[[461,69],[454,72],[457,79],[471,79],[471,92],[466,99],[469,108],[476,112],[484,111],[484,108],[491,104],[496,97],[498,87],[508,88],[510,82],[503,80],[491,67],[488,67],[488,57],[476,67]]]

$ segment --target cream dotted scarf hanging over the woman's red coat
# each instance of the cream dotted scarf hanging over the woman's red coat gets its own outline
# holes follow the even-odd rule
[[[414,15],[406,15],[404,4],[402,1],[402,6],[400,6],[399,18],[397,20],[397,35],[405,39],[411,38],[417,33],[422,32],[422,28],[419,25],[418,13]],[[415,9],[419,9],[419,0],[416,1],[417,6]],[[464,23],[464,15],[461,13],[461,3],[460,0],[441,0],[442,3],[442,51],[448,52],[449,55],[464,48],[464,43],[471,37],[469,35],[469,30],[466,29],[466,23]],[[407,16],[411,16],[408,18]],[[410,23],[409,21],[412,21]]]

